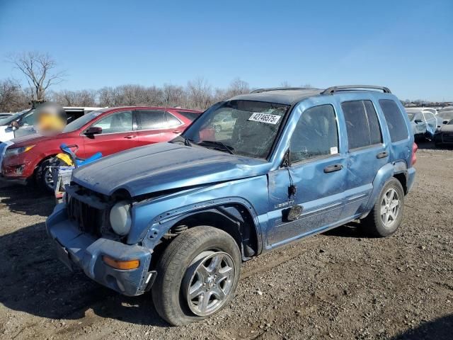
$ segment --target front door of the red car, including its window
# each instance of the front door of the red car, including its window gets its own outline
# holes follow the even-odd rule
[[[84,150],[81,152],[81,157],[91,157],[96,152],[108,156],[138,146],[132,111],[110,113],[97,120],[89,128],[91,127],[102,128],[102,133],[92,136],[82,135]]]

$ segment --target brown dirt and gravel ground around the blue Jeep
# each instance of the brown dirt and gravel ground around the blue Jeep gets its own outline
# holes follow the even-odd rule
[[[52,199],[0,188],[1,339],[453,339],[453,151],[420,149],[401,229],[351,224],[243,265],[231,307],[168,327],[149,295],[70,273],[45,234]]]

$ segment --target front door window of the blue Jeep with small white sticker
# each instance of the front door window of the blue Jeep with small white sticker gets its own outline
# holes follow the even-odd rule
[[[304,111],[291,137],[292,162],[338,154],[338,129],[331,105],[315,106]]]

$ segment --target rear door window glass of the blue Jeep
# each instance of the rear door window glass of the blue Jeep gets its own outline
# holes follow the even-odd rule
[[[349,149],[358,149],[382,143],[377,113],[371,101],[341,103],[348,132]]]

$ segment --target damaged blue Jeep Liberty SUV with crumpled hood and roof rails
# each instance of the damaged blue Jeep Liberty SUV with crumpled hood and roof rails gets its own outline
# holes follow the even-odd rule
[[[188,324],[231,302],[241,261],[352,220],[396,232],[416,149],[386,87],[259,89],[171,142],[76,169],[47,233],[69,268],[151,290],[161,317]]]

